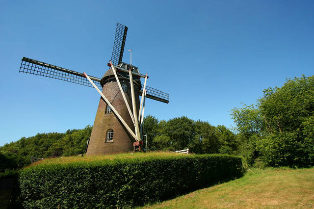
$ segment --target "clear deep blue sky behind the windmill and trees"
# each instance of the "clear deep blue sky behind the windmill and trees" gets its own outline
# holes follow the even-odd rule
[[[286,78],[314,74],[313,0],[1,0],[0,146],[93,125],[95,89],[19,73],[23,56],[102,77],[116,22],[129,27],[124,61],[169,104],[145,114],[230,127],[230,110]]]

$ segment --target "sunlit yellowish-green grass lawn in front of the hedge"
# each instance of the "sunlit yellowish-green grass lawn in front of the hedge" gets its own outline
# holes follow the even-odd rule
[[[314,208],[314,168],[251,169],[241,179],[145,208]]]

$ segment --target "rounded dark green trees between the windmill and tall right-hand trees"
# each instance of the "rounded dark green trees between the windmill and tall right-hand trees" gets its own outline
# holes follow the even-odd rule
[[[150,150],[176,151],[189,148],[196,154],[235,154],[238,146],[235,134],[226,127],[216,128],[208,122],[194,121],[185,116],[158,122],[149,115],[144,118],[146,132],[150,132]]]

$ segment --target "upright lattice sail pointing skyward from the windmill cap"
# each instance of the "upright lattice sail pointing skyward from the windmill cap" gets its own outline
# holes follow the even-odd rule
[[[128,32],[127,26],[117,23],[116,35],[114,37],[113,50],[111,55],[111,61],[113,65],[118,65],[122,62],[127,32]]]

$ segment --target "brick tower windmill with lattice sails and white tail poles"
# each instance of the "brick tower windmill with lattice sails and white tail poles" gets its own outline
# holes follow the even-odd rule
[[[122,62],[128,27],[117,23],[109,69],[102,78],[23,57],[21,73],[49,77],[94,87],[101,95],[87,155],[104,155],[143,149],[145,98],[169,103],[169,95],[146,85],[132,63]],[[144,79],[144,84],[141,83]],[[100,90],[102,89],[102,90]],[[139,100],[141,96],[141,101]]]

